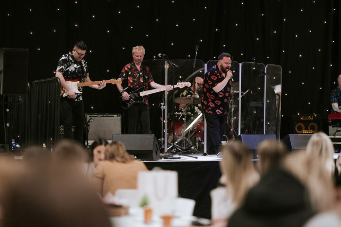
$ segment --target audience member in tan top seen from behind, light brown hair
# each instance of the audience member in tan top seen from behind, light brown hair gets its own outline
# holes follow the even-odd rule
[[[102,196],[108,192],[114,195],[117,189],[136,189],[137,172],[148,170],[143,162],[129,155],[119,141],[106,146],[104,159],[93,176],[94,186]]]

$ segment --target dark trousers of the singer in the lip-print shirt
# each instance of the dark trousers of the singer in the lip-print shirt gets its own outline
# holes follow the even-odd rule
[[[207,153],[217,154],[226,127],[227,115],[216,116],[205,113],[207,123]]]

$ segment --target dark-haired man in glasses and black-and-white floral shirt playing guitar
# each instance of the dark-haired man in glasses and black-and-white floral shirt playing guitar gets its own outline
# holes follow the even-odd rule
[[[91,82],[88,71],[88,64],[83,59],[86,55],[87,46],[84,41],[77,41],[71,53],[63,54],[57,65],[56,77],[60,84],[67,91],[68,95],[60,94],[60,124],[64,126],[64,138],[76,140],[83,144],[83,127],[85,124],[84,104],[81,93],[75,91],[66,81]],[[105,87],[105,81],[99,85],[89,87],[102,89]],[[82,87],[78,88],[82,92]],[[65,96],[65,97],[64,97]],[[73,115],[75,118],[73,119]],[[73,121],[74,120],[74,121]],[[72,138],[72,125],[75,126],[74,138]]]

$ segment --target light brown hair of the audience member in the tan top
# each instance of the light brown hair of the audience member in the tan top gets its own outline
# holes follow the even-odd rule
[[[132,155],[129,155],[126,151],[126,146],[120,141],[114,141],[109,143],[105,146],[105,153],[104,153],[105,160],[115,160],[118,162],[129,162],[134,159]]]

